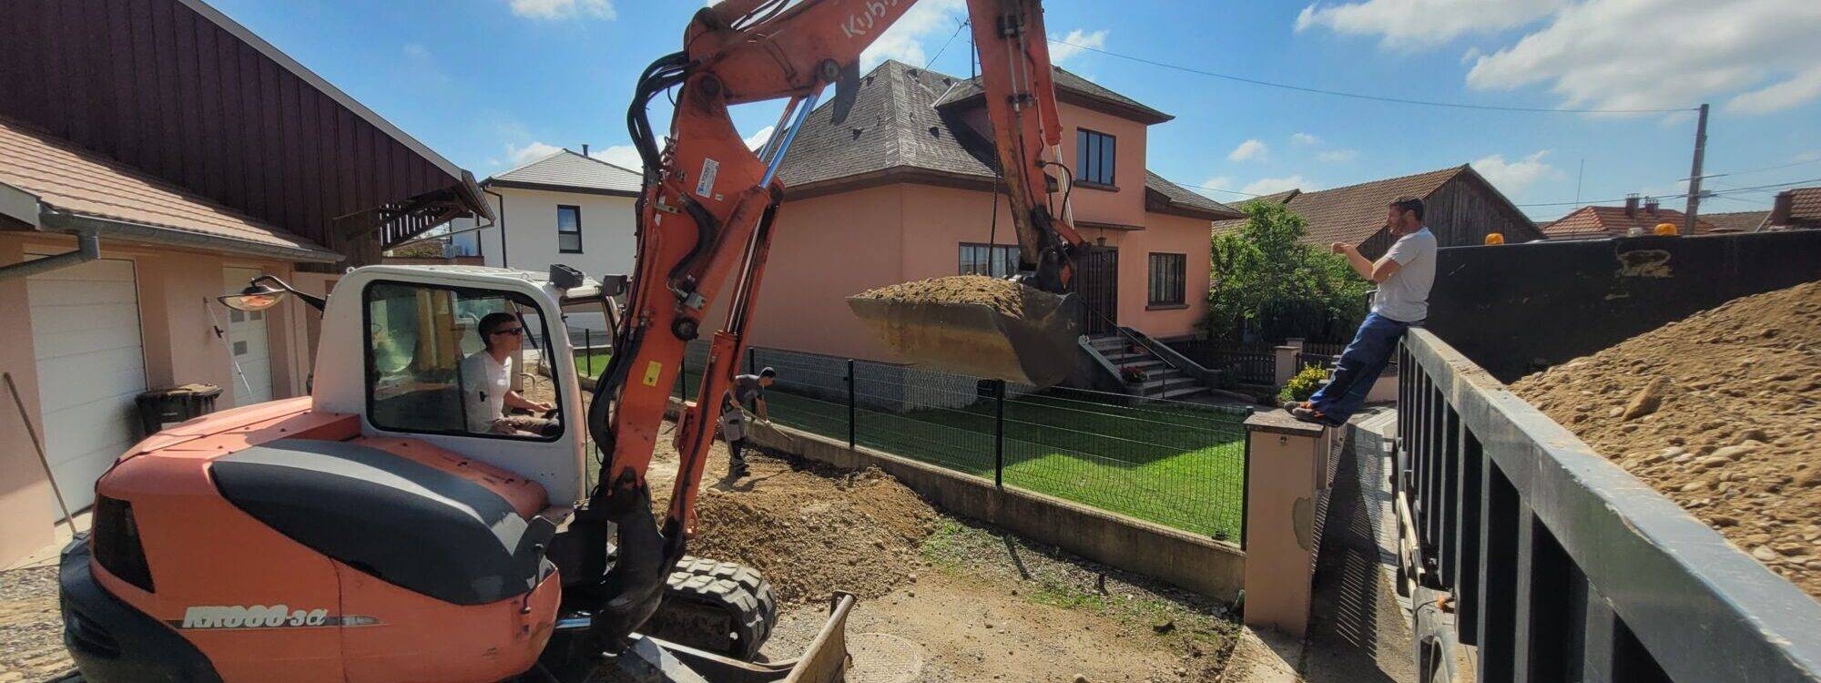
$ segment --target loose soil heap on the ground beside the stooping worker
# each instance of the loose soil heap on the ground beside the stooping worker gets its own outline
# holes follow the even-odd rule
[[[652,494],[668,499],[676,450],[654,454]],[[785,603],[819,603],[836,590],[880,597],[910,581],[936,510],[890,475],[812,472],[748,450],[750,475],[727,474],[727,446],[708,455],[696,503],[692,556],[736,561],[765,574]],[[665,503],[657,503],[663,510]]]

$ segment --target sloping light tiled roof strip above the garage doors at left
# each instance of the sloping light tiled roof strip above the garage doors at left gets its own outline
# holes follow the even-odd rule
[[[335,262],[320,244],[0,118],[0,184],[36,197],[40,226],[135,242]]]

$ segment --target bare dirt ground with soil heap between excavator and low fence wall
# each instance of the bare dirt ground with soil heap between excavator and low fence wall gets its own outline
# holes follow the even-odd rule
[[[1222,607],[943,517],[889,475],[748,463],[750,477],[716,479],[716,443],[690,552],[758,566],[792,605],[768,658],[809,645],[834,590],[861,596],[852,683],[1213,681],[1231,650]],[[674,474],[659,448],[654,488]]]

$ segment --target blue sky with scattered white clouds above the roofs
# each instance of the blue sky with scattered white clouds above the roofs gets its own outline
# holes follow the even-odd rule
[[[677,49],[697,2],[211,0],[477,177],[554,148],[626,158],[634,78]],[[1116,7],[1109,9],[1109,7]],[[967,75],[961,0],[925,0],[867,62]],[[1513,107],[1712,102],[1704,211],[1768,208],[1821,178],[1821,2],[1814,0],[1051,0],[1053,38],[1318,89]],[[940,55],[938,55],[940,51]],[[1320,189],[1471,162],[1513,202],[1684,191],[1694,117],[1513,113],[1368,102],[1209,78],[1093,49],[1060,64],[1167,111],[1149,166],[1182,184]],[[668,104],[661,104],[668,107]],[[758,133],[776,106],[736,113]],[[666,118],[654,111],[657,120]],[[1768,169],[1766,169],[1768,168]],[[1220,200],[1246,195],[1206,191]],[[1681,199],[1664,200],[1681,208]],[[1553,219],[1572,206],[1528,206]]]

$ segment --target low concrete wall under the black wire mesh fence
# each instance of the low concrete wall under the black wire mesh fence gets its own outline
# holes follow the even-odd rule
[[[1246,552],[1231,543],[1198,537],[1162,525],[1116,515],[1058,497],[918,463],[872,448],[783,426],[752,424],[748,439],[763,448],[827,463],[843,470],[878,466],[931,505],[951,514],[1054,545],[1096,563],[1144,574],[1220,601],[1236,601],[1246,579]]]

